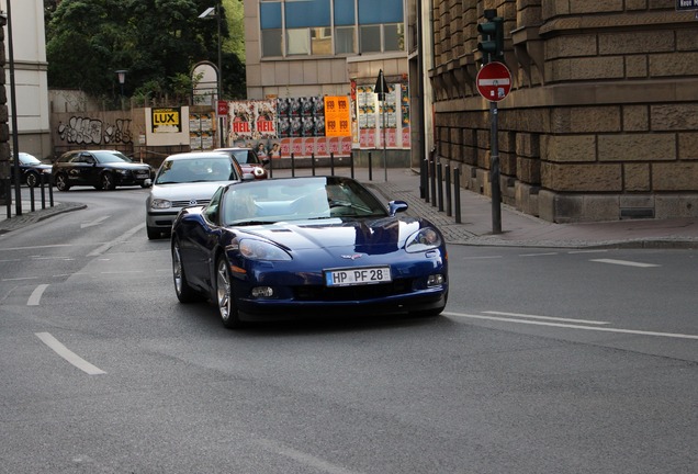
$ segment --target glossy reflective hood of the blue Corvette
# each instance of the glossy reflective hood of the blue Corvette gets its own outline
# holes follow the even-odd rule
[[[341,248],[369,255],[387,253],[404,247],[409,236],[429,225],[413,217],[378,219],[327,218],[237,227],[238,237],[262,237],[292,250]]]

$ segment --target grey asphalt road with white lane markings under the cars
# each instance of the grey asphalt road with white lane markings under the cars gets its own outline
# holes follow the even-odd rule
[[[698,252],[451,246],[432,319],[225,330],[147,190],[0,235],[1,473],[693,473]]]

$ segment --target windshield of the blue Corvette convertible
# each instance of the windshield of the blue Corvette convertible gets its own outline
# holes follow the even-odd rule
[[[354,180],[338,177],[233,184],[225,193],[222,208],[224,225],[387,216],[371,192]]]

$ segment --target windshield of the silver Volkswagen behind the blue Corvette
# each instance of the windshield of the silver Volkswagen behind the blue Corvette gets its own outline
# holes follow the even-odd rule
[[[232,181],[237,173],[226,156],[168,159],[162,162],[155,184],[177,184],[205,181]]]

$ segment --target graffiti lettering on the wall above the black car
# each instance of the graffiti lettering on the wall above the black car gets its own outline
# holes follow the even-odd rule
[[[71,145],[133,143],[131,119],[116,119],[113,124],[109,124],[100,119],[72,116],[67,124],[58,124],[58,136]]]

